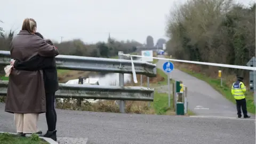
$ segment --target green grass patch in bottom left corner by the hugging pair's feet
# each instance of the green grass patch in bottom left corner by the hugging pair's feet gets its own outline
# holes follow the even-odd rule
[[[10,133],[1,133],[0,134],[0,143],[1,144],[49,144],[48,142],[40,139],[37,134],[31,135],[31,137],[20,137],[18,135]]]

